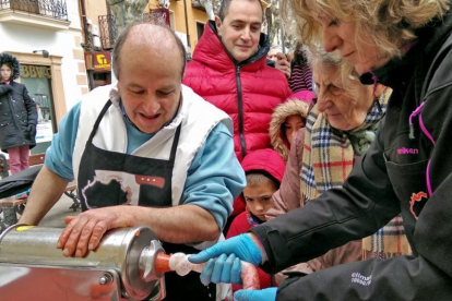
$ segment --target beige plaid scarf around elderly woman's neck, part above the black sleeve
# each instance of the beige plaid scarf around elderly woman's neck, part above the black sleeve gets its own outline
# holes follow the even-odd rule
[[[364,154],[373,142],[391,92],[385,88],[362,125],[350,132],[333,129],[317,107],[312,108],[306,124],[300,171],[301,207],[332,188],[342,188],[352,171],[355,155]]]

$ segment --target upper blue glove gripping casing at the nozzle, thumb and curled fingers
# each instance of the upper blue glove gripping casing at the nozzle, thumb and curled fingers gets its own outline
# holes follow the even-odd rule
[[[230,238],[189,257],[191,263],[207,261],[201,273],[201,282],[205,286],[210,282],[240,285],[240,260],[255,266],[262,261],[261,251],[249,234]]]

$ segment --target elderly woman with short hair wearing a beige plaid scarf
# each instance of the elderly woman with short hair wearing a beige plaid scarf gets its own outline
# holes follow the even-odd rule
[[[373,92],[371,86],[359,83],[356,72],[344,76],[341,68],[346,65],[342,58],[316,49],[312,67],[318,100],[306,131],[302,129],[294,139],[281,189],[273,195],[274,207],[266,213],[267,220],[304,207],[329,189],[341,188],[373,142],[391,88],[378,85]],[[349,242],[309,261],[308,267],[298,268],[310,273],[361,258],[409,253],[402,218],[395,217],[362,243]]]

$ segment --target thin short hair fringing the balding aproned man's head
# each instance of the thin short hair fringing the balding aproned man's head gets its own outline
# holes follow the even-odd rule
[[[162,27],[169,34],[169,36],[171,36],[174,38],[174,40],[176,41],[177,48],[179,49],[180,57],[182,59],[181,77],[183,77],[183,72],[186,70],[186,62],[187,62],[187,52],[186,52],[186,47],[183,46],[180,38],[168,26],[164,26],[164,25],[160,25],[160,24],[153,24],[148,21],[136,21],[136,22],[133,22],[133,23],[129,24],[121,32],[121,34],[119,35],[119,37],[117,38],[117,40],[115,43],[111,61],[112,61],[112,71],[114,71],[114,74],[115,74],[116,79],[119,80],[119,60],[120,60],[120,57],[121,57],[122,47],[124,46],[124,43],[126,43],[131,29],[135,26],[139,26],[139,25],[153,25],[153,26]]]

